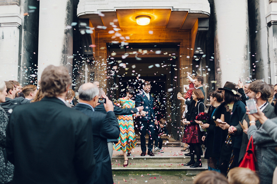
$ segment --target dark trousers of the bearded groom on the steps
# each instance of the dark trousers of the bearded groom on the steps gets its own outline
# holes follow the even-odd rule
[[[139,133],[141,134],[141,151],[146,152],[146,141],[145,141],[145,135],[146,132],[149,135],[149,139],[148,139],[148,151],[152,151],[153,150],[153,142],[154,142],[154,120],[148,120],[148,121],[141,121],[140,123],[140,131]]]

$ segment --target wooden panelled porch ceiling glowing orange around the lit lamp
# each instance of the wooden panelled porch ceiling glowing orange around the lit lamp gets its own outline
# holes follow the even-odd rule
[[[103,16],[104,15],[104,16]],[[139,26],[136,16],[147,15],[151,17],[150,24]],[[88,18],[92,25],[106,26],[107,28],[147,28],[162,26],[166,28],[191,29],[197,18],[208,18],[202,13],[189,13],[188,11],[172,11],[171,9],[117,9],[116,11],[102,12],[101,14],[86,14],[79,18]]]

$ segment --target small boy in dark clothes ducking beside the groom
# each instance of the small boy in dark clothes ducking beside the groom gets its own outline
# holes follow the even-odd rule
[[[168,131],[166,130],[165,125],[166,125],[166,120],[164,118],[161,118],[157,123],[155,122],[155,127],[154,127],[155,150],[154,150],[154,152],[160,152],[160,153],[164,152],[164,151],[162,151],[162,138],[160,136],[168,135]],[[159,143],[159,147],[158,147],[158,143]]]

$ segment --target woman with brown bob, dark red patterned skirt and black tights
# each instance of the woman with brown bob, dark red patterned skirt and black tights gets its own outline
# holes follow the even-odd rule
[[[196,116],[200,112],[204,112],[204,104],[201,102],[204,99],[204,95],[201,89],[194,89],[192,91],[192,103],[186,113],[183,123],[187,125],[184,129],[185,143],[190,146],[190,161],[184,166],[190,166],[192,168],[202,167],[201,163],[201,144],[202,144],[202,135],[200,131],[199,124],[196,123]],[[194,160],[194,154],[196,154],[196,162]]]

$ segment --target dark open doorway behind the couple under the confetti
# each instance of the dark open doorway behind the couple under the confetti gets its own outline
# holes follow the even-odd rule
[[[108,55],[111,55],[108,62],[108,68],[111,70],[107,89],[116,89],[107,91],[111,99],[124,97],[128,86],[139,93],[143,90],[142,80],[149,81],[157,120],[165,118],[170,135],[179,140],[181,108],[177,100],[177,93],[180,91],[178,43],[170,45],[132,43],[123,47],[108,45],[107,48]],[[113,52],[116,55],[113,56],[111,54]],[[125,53],[137,54],[126,57]],[[139,118],[134,122],[135,130],[138,130]]]

